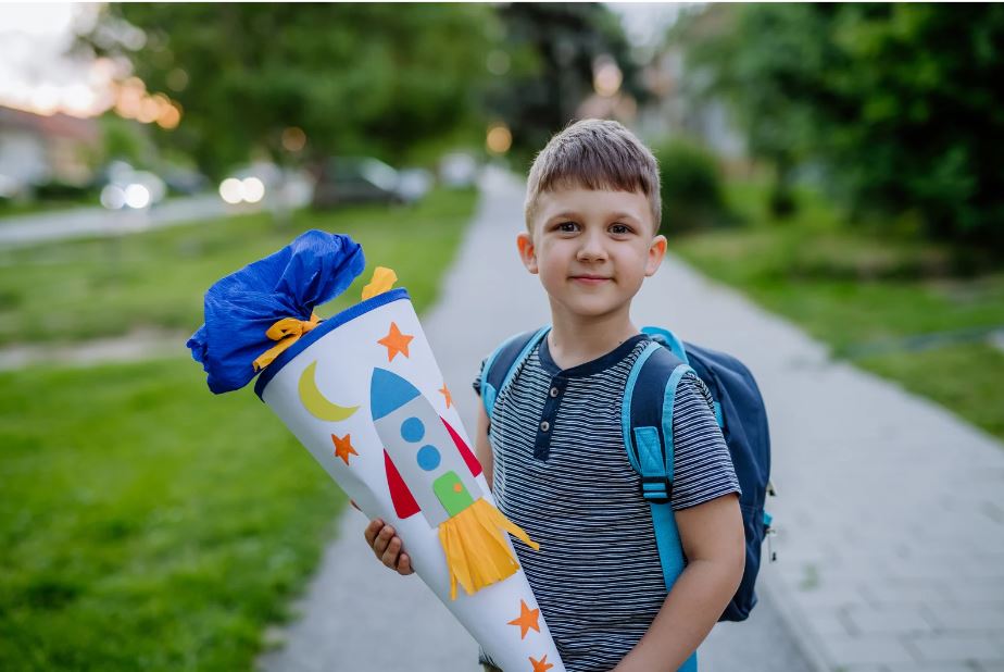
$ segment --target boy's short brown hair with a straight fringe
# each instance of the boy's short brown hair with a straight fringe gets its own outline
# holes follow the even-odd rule
[[[641,190],[649,199],[654,233],[658,232],[662,221],[658,162],[649,148],[619,123],[599,119],[575,122],[540,150],[530,166],[524,206],[530,233],[537,198],[544,191],[574,186],[612,191]]]

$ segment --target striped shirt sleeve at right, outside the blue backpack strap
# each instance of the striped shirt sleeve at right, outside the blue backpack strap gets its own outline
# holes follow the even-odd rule
[[[732,458],[715,420],[707,386],[693,374],[680,381],[673,407],[673,509],[688,509],[741,493]]]

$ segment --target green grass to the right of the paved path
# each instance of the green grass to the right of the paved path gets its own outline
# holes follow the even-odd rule
[[[678,253],[833,348],[838,357],[909,336],[1004,325],[1004,273],[953,277],[942,246],[842,227],[801,195],[793,221],[765,213],[765,191],[730,189],[748,225],[674,239]],[[893,351],[855,363],[943,403],[1004,438],[1004,353],[982,343]],[[938,375],[934,372],[950,375]]]

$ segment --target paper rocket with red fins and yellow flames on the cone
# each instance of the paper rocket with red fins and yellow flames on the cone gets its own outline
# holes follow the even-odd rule
[[[457,582],[473,595],[514,574],[519,565],[503,531],[535,549],[539,545],[480,496],[475,476],[481,465],[463,439],[396,373],[374,369],[369,397],[394,511],[402,519],[422,512],[439,528],[450,599],[456,599]]]

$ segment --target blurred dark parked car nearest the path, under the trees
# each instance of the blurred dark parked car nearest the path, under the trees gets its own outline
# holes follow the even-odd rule
[[[428,171],[397,171],[369,157],[331,157],[321,166],[313,206],[349,203],[413,203],[432,188]]]

